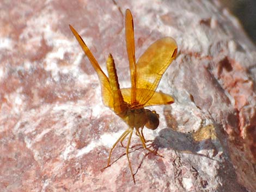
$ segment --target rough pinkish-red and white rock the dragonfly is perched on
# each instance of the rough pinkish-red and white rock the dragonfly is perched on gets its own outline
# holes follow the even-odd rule
[[[0,3],[1,191],[256,191],[255,46],[217,1],[147,2]],[[129,86],[126,8],[137,58],[162,36],[180,51],[159,86],[175,103],[152,107],[160,126],[144,131],[163,157],[133,135],[136,185],[121,146],[100,171],[126,125],[68,27]]]

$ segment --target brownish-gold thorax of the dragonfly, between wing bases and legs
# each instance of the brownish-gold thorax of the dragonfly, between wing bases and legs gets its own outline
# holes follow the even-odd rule
[[[129,127],[140,128],[148,122],[146,110],[141,109],[129,109],[126,116],[123,118]]]

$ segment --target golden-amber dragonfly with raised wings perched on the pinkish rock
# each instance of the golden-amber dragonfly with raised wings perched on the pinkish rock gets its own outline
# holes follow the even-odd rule
[[[135,183],[135,175],[133,174],[129,158],[132,134],[135,131],[141,140],[143,148],[151,151],[146,146],[147,141],[143,135],[143,128],[156,129],[159,126],[159,114],[155,110],[151,111],[144,107],[171,104],[174,102],[172,96],[163,92],[157,92],[156,88],[159,85],[163,73],[176,57],[178,51],[177,44],[173,38],[161,38],[151,44],[136,63],[133,17],[130,9],[127,9],[125,14],[125,38],[130,66],[131,88],[120,89],[112,54],[108,55],[106,61],[108,72],[108,76],[106,76],[81,36],[71,25],[69,27],[99,77],[103,104],[121,117],[128,126],[126,131],[113,144],[105,168],[111,165],[111,154],[115,146],[119,142],[123,145],[122,141],[128,137],[126,157],[133,182]]]

